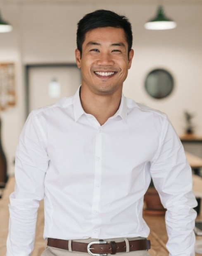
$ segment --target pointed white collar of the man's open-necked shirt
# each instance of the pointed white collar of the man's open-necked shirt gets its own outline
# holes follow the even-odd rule
[[[73,98],[75,122],[78,121],[81,115],[85,114],[85,111],[83,110],[83,107],[81,105],[81,100],[80,100],[80,93],[79,93],[80,88],[81,86],[79,86]],[[121,103],[120,103],[119,109],[117,110],[117,112],[114,114],[113,117],[117,117],[117,116],[120,116],[124,120],[124,122],[126,122],[127,103],[126,103],[126,97],[124,96],[124,94],[122,94],[121,96]]]

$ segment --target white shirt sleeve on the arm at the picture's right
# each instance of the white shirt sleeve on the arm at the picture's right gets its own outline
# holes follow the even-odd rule
[[[192,172],[183,146],[166,118],[159,134],[159,149],[151,162],[154,186],[166,211],[169,256],[194,256],[197,201],[192,192]]]

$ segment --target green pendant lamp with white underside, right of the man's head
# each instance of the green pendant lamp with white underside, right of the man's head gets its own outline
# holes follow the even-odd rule
[[[162,6],[158,7],[157,16],[145,23],[145,29],[152,30],[174,29],[176,26],[176,22],[165,16]]]

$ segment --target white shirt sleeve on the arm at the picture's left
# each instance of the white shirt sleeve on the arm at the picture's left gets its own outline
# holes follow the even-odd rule
[[[45,133],[34,112],[21,132],[15,159],[15,190],[10,195],[6,256],[30,256],[33,251],[39,201],[49,158]]]

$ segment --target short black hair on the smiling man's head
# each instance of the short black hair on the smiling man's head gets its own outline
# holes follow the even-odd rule
[[[76,44],[80,53],[82,54],[82,45],[88,31],[108,26],[124,29],[129,54],[133,43],[131,23],[125,16],[109,10],[96,10],[95,12],[88,13],[78,22]]]

